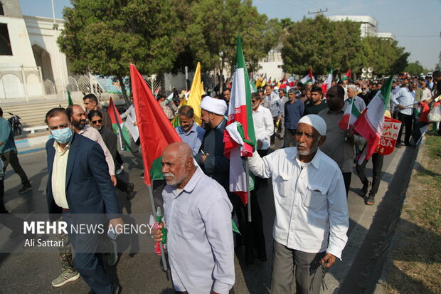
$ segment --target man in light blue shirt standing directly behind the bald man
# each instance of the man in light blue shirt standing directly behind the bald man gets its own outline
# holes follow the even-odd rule
[[[182,106],[179,108],[178,115],[181,126],[176,127],[175,130],[178,132],[179,137],[181,137],[182,142],[190,145],[193,150],[193,155],[196,155],[201,148],[205,130],[194,123],[194,111],[192,107],[188,105]]]

